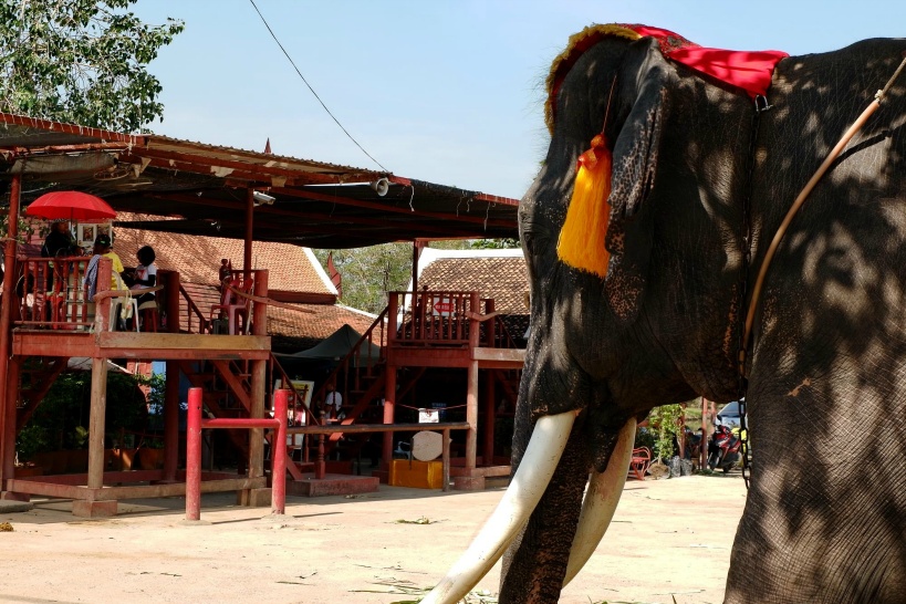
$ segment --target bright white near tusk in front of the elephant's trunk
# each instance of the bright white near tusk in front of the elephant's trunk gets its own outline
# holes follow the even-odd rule
[[[525,455],[497,509],[466,553],[421,604],[459,602],[491,570],[544,494],[566,448],[575,416],[575,412],[566,412],[544,416],[535,423]]]

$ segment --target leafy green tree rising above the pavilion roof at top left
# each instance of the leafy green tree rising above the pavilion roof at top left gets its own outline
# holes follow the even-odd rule
[[[117,132],[163,118],[146,66],[184,24],[145,24],[136,1],[0,0],[0,111]]]

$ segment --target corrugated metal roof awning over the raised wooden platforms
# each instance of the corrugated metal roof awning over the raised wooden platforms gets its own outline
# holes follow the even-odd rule
[[[256,240],[357,248],[518,237],[514,199],[348,166],[0,113],[0,187],[14,171],[24,177],[23,206],[49,190],[74,189],[103,197],[117,210],[176,218],[124,223],[152,230],[241,239],[248,189],[253,188],[274,198],[254,209]],[[369,186],[381,178],[388,179],[383,196]]]

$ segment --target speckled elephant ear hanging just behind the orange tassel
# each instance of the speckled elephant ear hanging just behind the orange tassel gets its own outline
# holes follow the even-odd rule
[[[645,42],[636,43],[643,45]],[[610,265],[604,290],[614,313],[631,321],[641,308],[652,256],[653,221],[645,199],[654,187],[666,115],[669,71],[654,43],[627,53],[623,83],[634,100],[614,143],[611,207],[605,248]],[[624,96],[625,97],[625,96]]]

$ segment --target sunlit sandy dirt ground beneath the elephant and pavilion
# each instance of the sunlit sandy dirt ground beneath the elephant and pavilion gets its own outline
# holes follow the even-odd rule
[[[502,493],[381,487],[296,498],[287,514],[202,498],[121,502],[83,520],[71,502],[0,513],[0,602],[379,603],[414,601],[465,551]],[[628,481],[614,522],[561,602],[721,602],[746,490],[741,478]],[[479,585],[497,591],[500,564]],[[407,590],[406,587],[410,587]],[[478,598],[472,600],[478,602]],[[487,600],[493,602],[493,600]]]

